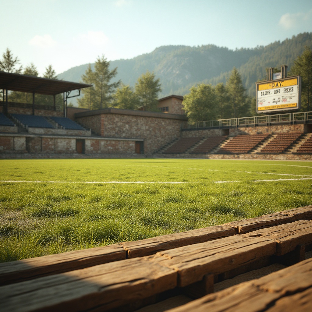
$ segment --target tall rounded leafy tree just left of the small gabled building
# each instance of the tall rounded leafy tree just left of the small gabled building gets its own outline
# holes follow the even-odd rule
[[[135,94],[139,99],[143,110],[158,111],[158,93],[161,92],[160,79],[156,79],[154,73],[147,71],[138,78],[135,83]]]

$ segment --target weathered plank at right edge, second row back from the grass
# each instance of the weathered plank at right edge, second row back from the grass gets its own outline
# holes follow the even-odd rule
[[[291,224],[268,227],[245,234],[245,236],[247,235],[267,237],[276,241],[275,255],[282,256],[295,250],[299,244],[312,243],[312,221],[300,220]]]

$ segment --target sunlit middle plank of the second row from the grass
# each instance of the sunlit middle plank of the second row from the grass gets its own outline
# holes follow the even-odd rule
[[[147,258],[177,271],[178,286],[185,287],[206,274],[226,272],[275,251],[275,241],[246,234],[160,251]]]

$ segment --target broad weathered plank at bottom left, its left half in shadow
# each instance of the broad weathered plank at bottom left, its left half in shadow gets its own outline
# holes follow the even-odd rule
[[[107,311],[176,285],[172,269],[144,258],[121,260],[1,286],[1,311]]]

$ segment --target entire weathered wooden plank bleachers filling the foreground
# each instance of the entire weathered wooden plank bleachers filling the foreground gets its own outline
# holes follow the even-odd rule
[[[312,260],[303,261],[312,249],[311,220],[312,206],[306,206],[142,241],[2,263],[1,311],[134,311],[177,295],[188,300],[204,297],[175,312],[289,310],[287,302],[295,302],[298,310],[311,308]],[[216,283],[274,263],[288,267],[207,295]]]

